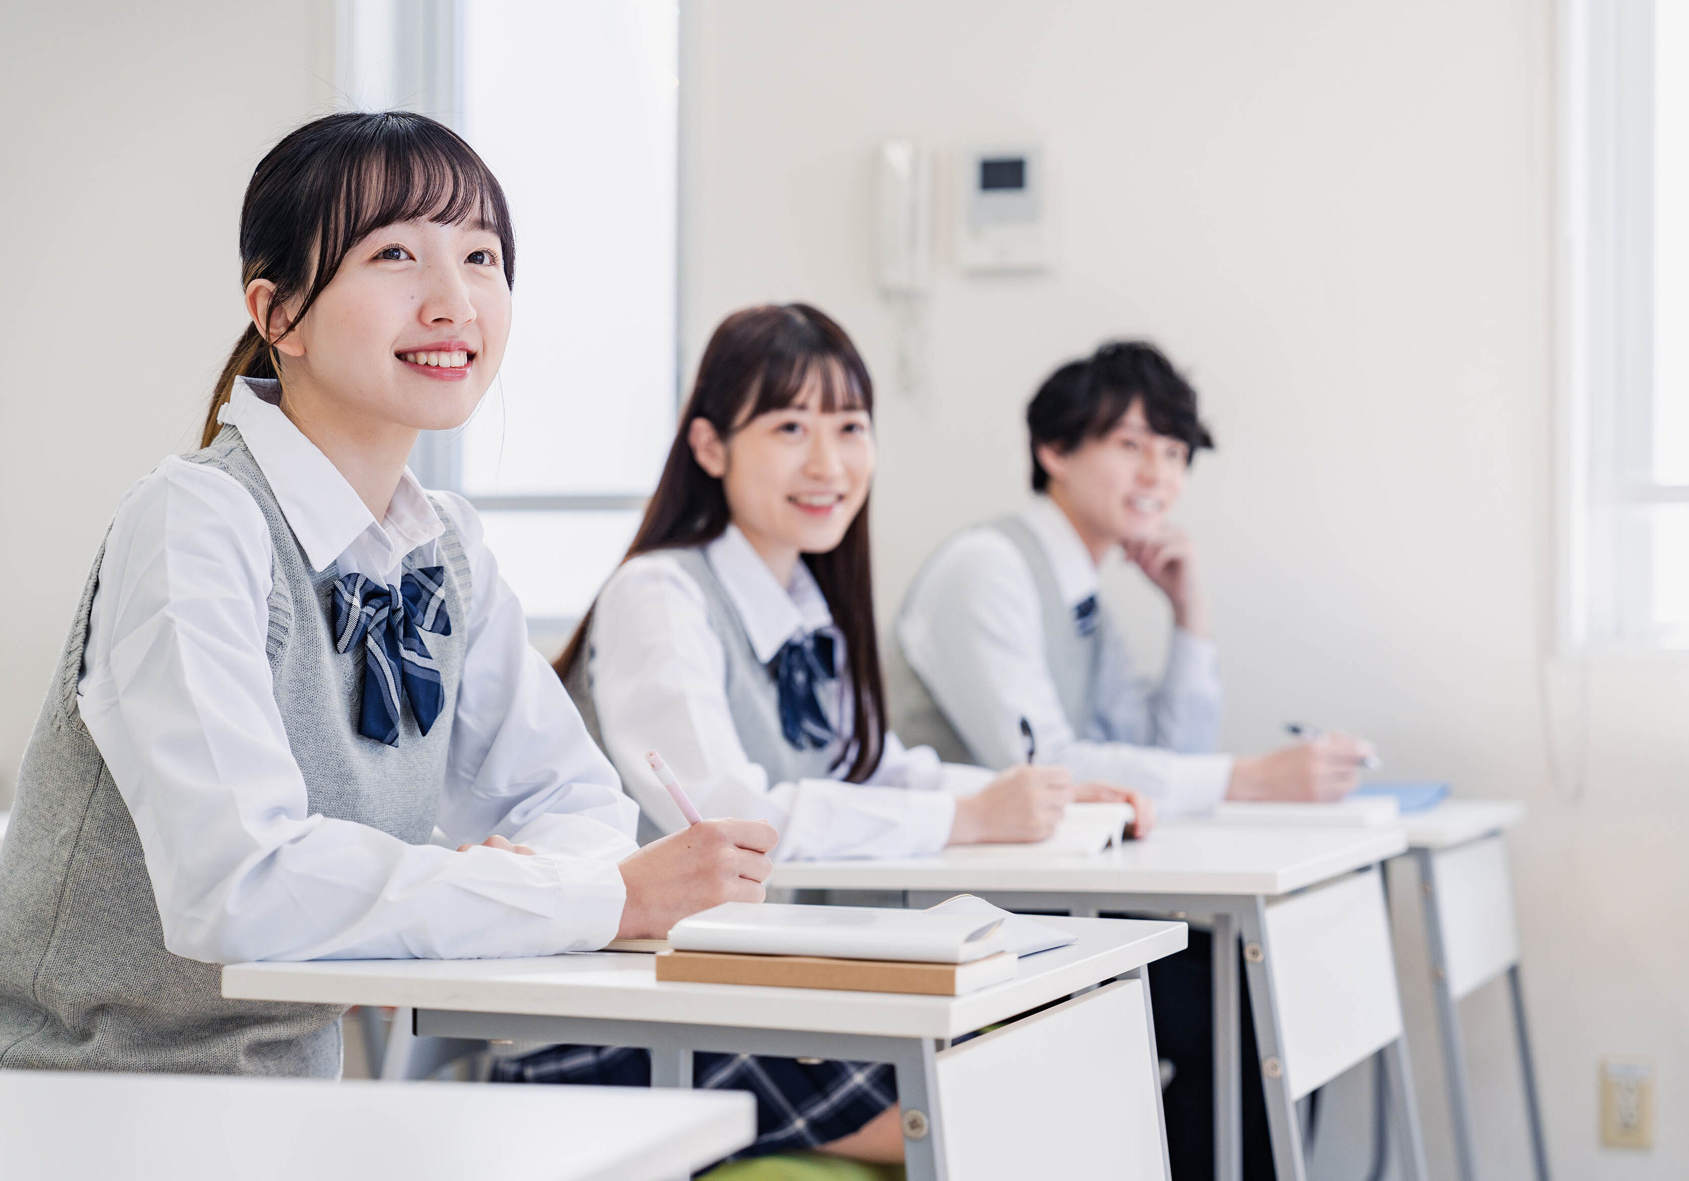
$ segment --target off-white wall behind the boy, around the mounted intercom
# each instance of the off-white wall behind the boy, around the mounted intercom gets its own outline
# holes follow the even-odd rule
[[[1402,777],[1530,804],[1527,988],[1561,1178],[1665,1178],[1596,1144],[1596,1058],[1648,1053],[1682,1110],[1689,737],[1677,667],[1598,671],[1588,782],[1551,786],[1539,672],[1551,480],[1552,29],[1542,0],[696,0],[686,8],[682,328],[804,297],[882,377],[882,620],[922,556],[1013,505],[1018,416],[1059,360],[1149,335],[1221,449],[1204,554],[1238,750],[1285,718],[1373,737]],[[870,280],[872,150],[1035,133],[1061,220],[1039,277],[941,242],[931,389],[897,395]],[[1116,588],[1154,649],[1164,612]],[[1554,699],[1567,696],[1559,681]],[[1576,696],[1576,694],[1572,694]],[[1561,718],[1566,764],[1578,727]],[[1409,933],[1404,931],[1404,938]],[[1490,1178],[1527,1176],[1496,988],[1466,1005]],[[1409,1002],[1426,1014],[1429,990]],[[1415,1042],[1449,1176],[1432,1042]],[[1360,1176],[1363,1169],[1348,1169]]]

